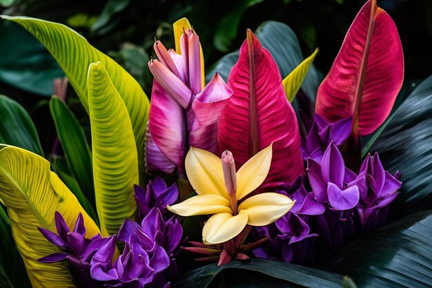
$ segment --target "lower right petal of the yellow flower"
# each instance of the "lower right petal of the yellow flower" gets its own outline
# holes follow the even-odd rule
[[[239,205],[249,215],[248,224],[264,226],[275,222],[293,208],[295,201],[279,193],[261,193]]]

